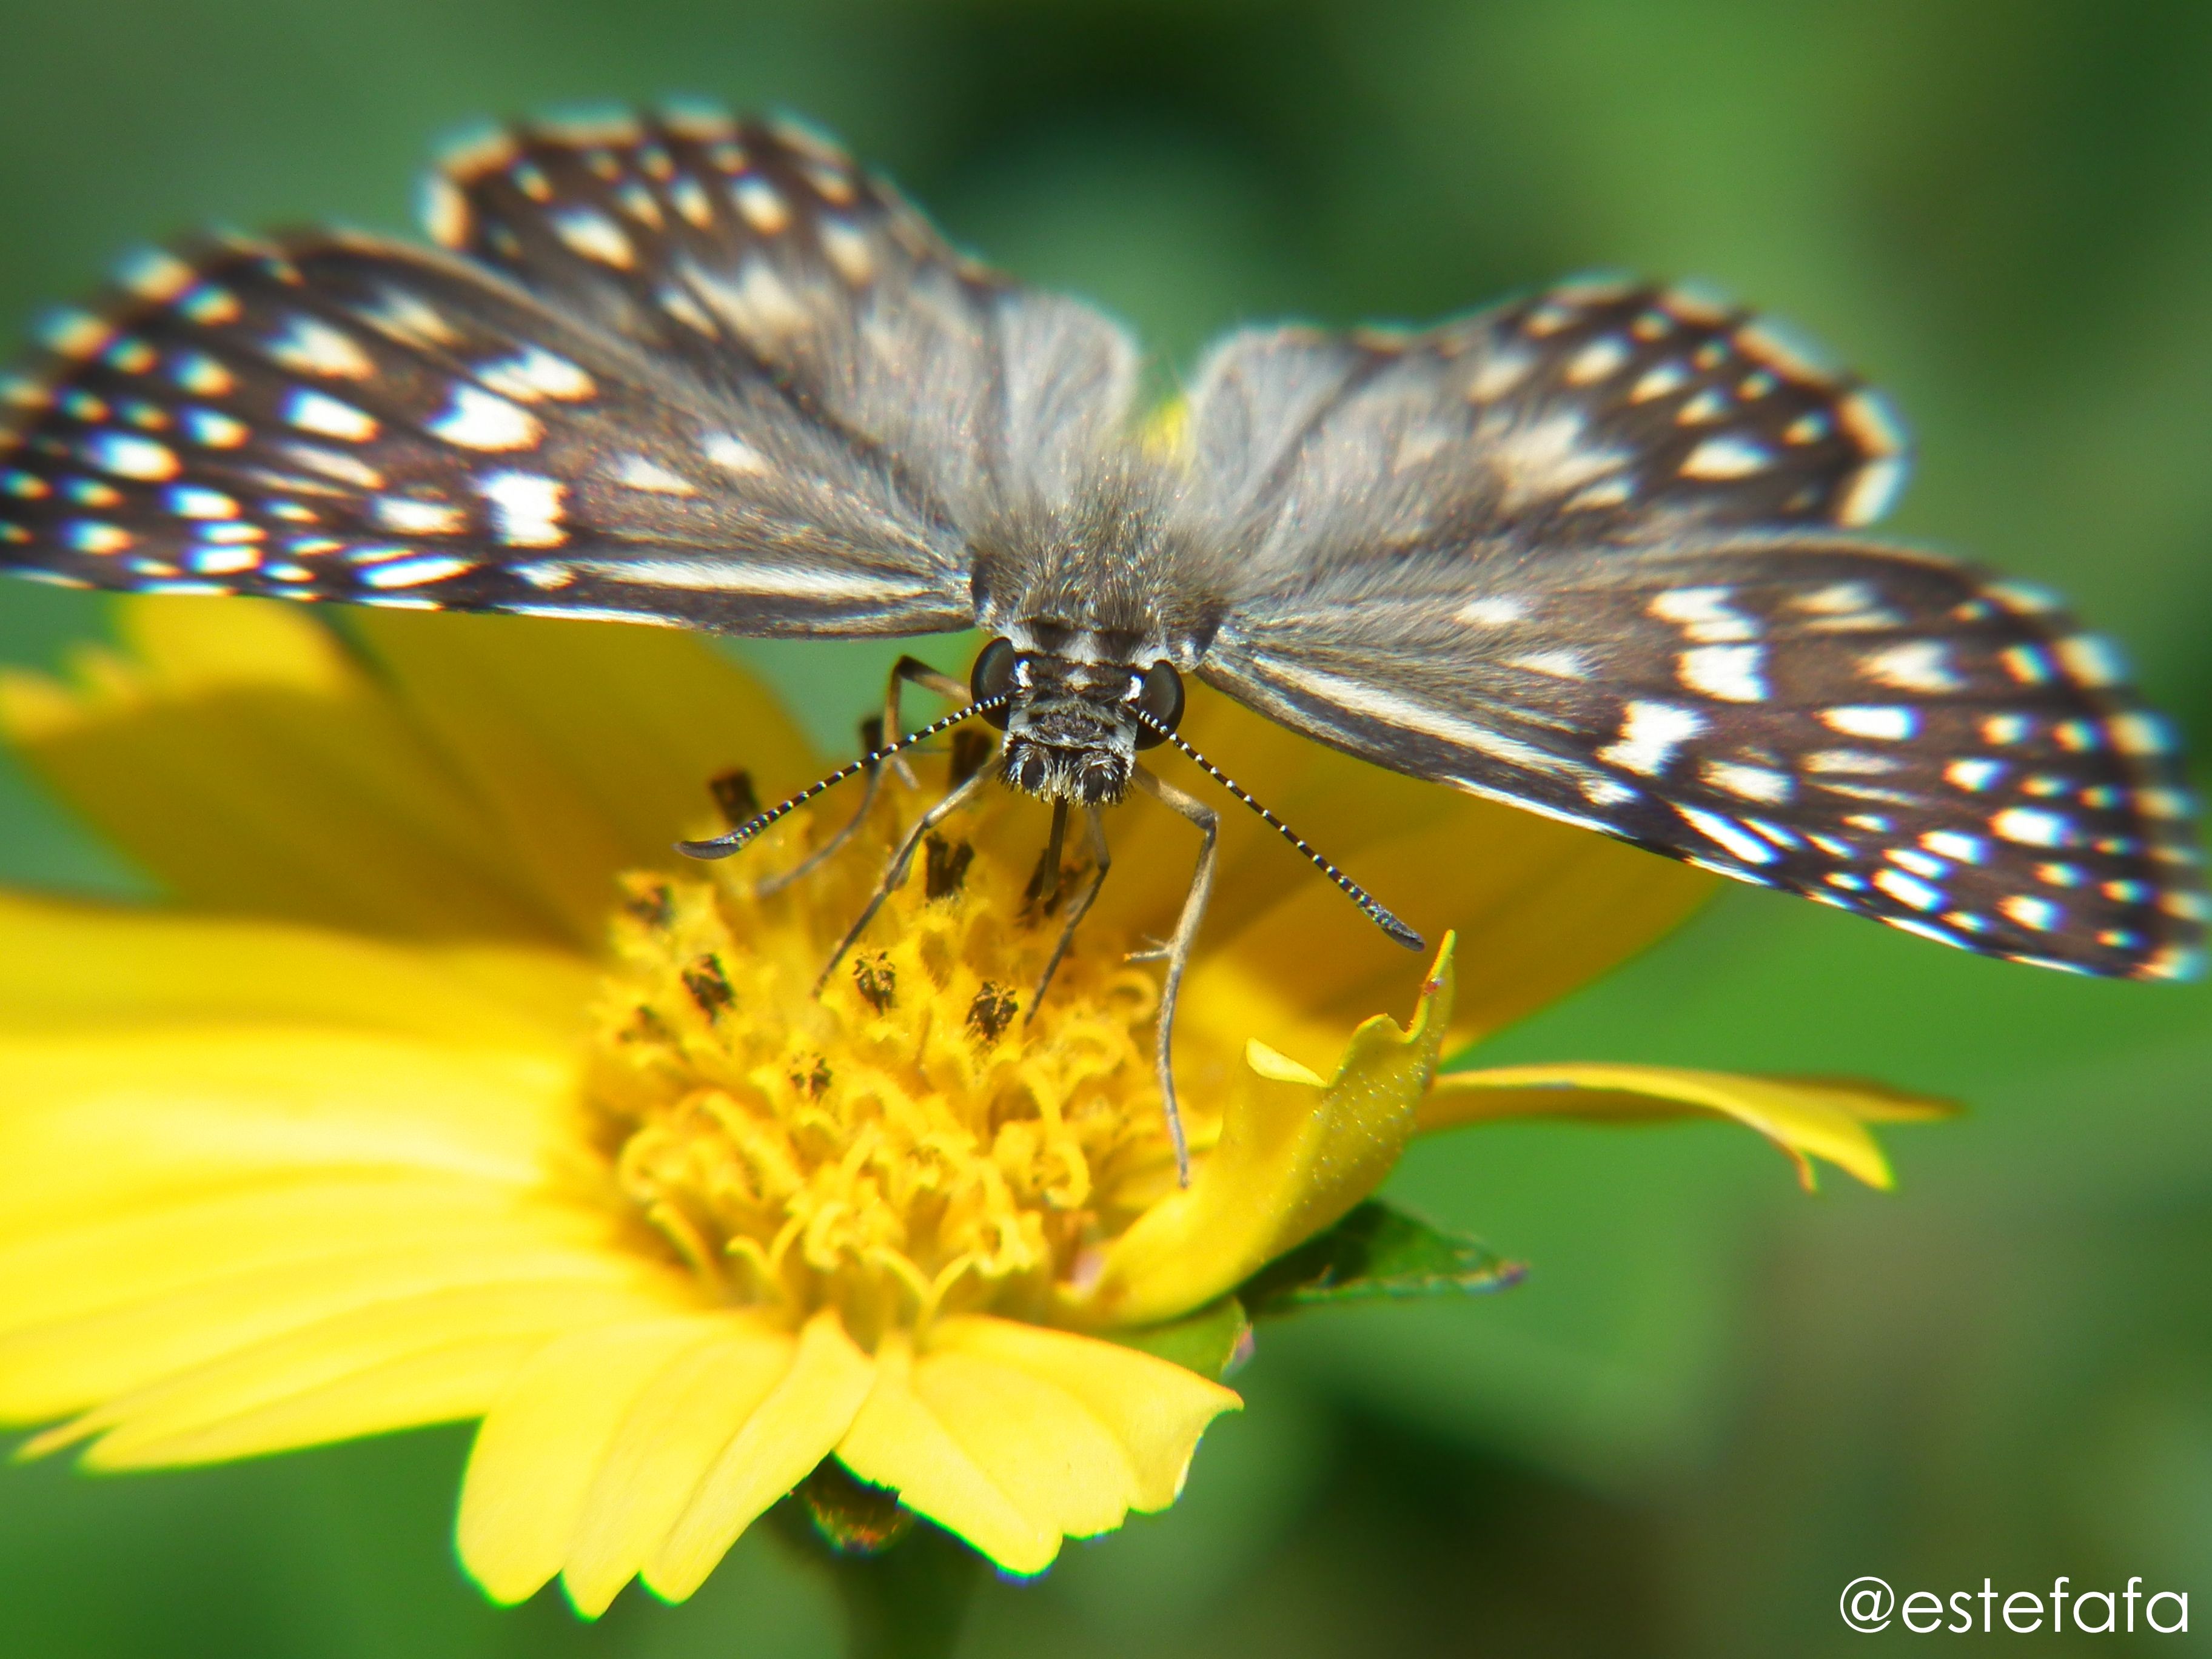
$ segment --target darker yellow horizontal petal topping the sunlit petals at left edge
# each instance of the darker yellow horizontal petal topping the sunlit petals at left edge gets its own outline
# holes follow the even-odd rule
[[[0,894],[0,1029],[283,1020],[568,1046],[593,969],[529,945],[425,947],[294,922]]]

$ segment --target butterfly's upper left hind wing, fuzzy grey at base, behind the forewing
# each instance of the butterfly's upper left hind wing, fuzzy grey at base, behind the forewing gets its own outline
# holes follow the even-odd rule
[[[425,219],[655,356],[772,378],[978,535],[1064,502],[1128,420],[1119,325],[962,257],[796,122],[677,106],[493,128],[453,148]]]

